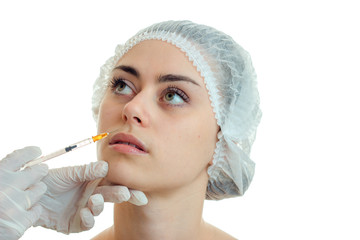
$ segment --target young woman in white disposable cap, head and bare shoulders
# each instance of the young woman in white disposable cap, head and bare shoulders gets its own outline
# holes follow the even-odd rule
[[[261,118],[249,54],[190,21],[152,25],[119,45],[94,85],[102,185],[124,185],[145,206],[114,205],[94,239],[234,239],[202,219],[205,199],[244,194]]]

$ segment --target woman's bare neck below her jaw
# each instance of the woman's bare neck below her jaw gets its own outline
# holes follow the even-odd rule
[[[113,239],[202,239],[207,175],[166,193],[146,193],[149,203],[115,204]]]

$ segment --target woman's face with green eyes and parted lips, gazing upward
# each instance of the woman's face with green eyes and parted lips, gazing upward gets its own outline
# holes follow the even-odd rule
[[[204,80],[176,46],[146,40],[116,64],[100,106],[98,159],[106,180],[144,192],[206,174],[218,126]],[[130,145],[129,145],[130,144]]]

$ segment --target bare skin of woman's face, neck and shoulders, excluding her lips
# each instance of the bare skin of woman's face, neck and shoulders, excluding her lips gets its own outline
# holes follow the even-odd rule
[[[233,239],[202,220],[219,131],[203,78],[180,49],[160,40],[139,43],[116,66],[137,74],[115,69],[114,79],[128,86],[110,86],[100,106],[98,132],[114,131],[98,144],[98,159],[109,163],[103,184],[143,191],[149,203],[115,204],[114,226],[95,239]],[[109,143],[119,132],[136,137],[146,153],[115,151]]]

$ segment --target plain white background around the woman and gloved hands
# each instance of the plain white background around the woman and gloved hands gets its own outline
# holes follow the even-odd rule
[[[251,53],[263,109],[250,189],[206,202],[205,220],[239,239],[360,239],[356,3],[1,1],[0,156],[27,145],[48,152],[95,134],[92,84],[116,44],[152,23],[189,19]],[[49,166],[95,160],[91,146]],[[107,204],[89,232],[38,227],[22,239],[89,239],[111,223]]]

